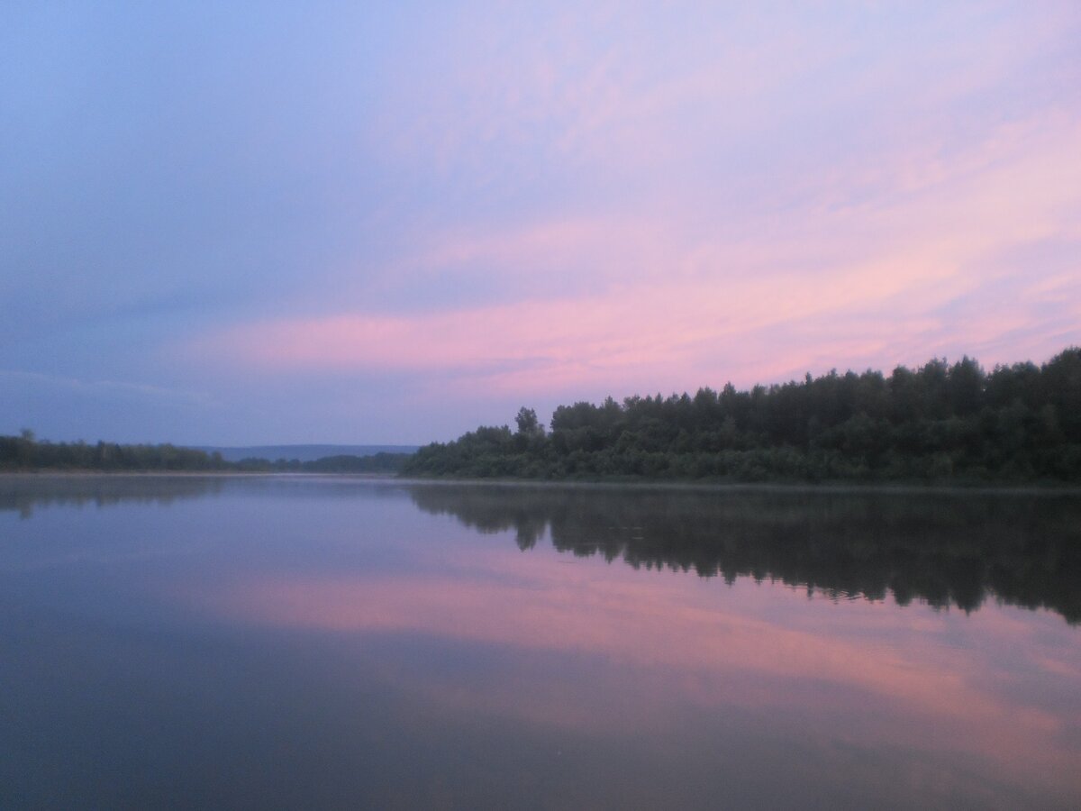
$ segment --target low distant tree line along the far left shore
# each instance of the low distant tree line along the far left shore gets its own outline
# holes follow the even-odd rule
[[[208,453],[168,443],[49,442],[39,441],[30,430],[18,436],[0,436],[0,470],[393,474],[408,456],[379,452],[371,456],[324,456],[311,462],[255,457],[226,462],[216,451]]]

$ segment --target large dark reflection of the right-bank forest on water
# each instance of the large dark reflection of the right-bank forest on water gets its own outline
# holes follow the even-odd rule
[[[414,486],[481,532],[547,528],[578,556],[782,581],[832,596],[977,609],[988,596],[1081,622],[1081,498],[965,492]]]

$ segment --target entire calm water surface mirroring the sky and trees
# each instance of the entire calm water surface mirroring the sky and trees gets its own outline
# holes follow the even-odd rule
[[[0,808],[1078,808],[1077,494],[0,478]]]

